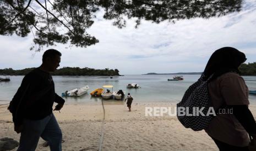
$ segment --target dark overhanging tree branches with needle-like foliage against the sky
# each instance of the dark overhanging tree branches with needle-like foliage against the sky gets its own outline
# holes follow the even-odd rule
[[[104,9],[105,19],[113,19],[113,25],[122,28],[126,26],[124,16],[136,18],[138,27],[142,19],[158,24],[210,18],[239,11],[241,5],[242,0],[2,0],[0,34],[26,37],[32,32],[38,51],[56,43],[87,47],[99,42],[86,32],[99,9]]]

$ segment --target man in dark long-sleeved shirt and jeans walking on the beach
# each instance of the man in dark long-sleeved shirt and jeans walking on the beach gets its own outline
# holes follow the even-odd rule
[[[35,150],[39,138],[48,141],[52,151],[62,150],[62,132],[52,113],[63,107],[64,100],[55,93],[50,72],[59,67],[61,53],[55,49],[46,50],[42,65],[26,74],[14,95],[9,111],[12,112],[14,130],[21,132],[18,151]]]

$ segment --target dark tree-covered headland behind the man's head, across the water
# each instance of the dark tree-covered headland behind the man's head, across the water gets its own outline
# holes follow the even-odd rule
[[[35,68],[25,68],[25,69],[19,69],[14,70],[12,68],[4,68],[0,69],[0,75],[26,75],[32,69]],[[101,76],[115,76],[119,75],[118,69],[94,69],[94,68],[79,68],[79,67],[63,67],[60,69],[57,69],[55,72],[52,73],[52,75],[101,75]]]

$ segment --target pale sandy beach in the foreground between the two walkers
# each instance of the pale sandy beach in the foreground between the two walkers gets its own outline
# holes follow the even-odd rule
[[[97,150],[101,130],[102,150],[217,150],[215,143],[204,132],[184,128],[176,117],[146,117],[145,107],[173,107],[171,103],[133,103],[132,112],[125,104],[66,104],[61,113],[54,112],[63,132],[63,150]],[[250,106],[255,117],[256,106]],[[1,110],[3,111],[3,109]],[[10,114],[1,116],[0,137],[19,141]],[[37,150],[43,147],[40,138]],[[16,149],[13,149],[16,150]]]

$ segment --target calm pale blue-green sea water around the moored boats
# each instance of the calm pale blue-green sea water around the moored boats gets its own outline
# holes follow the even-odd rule
[[[80,97],[63,97],[67,103],[100,103],[101,97],[91,97],[90,92],[102,85],[113,85],[113,90],[122,89],[126,94],[130,92],[136,102],[178,102],[181,100],[188,86],[193,84],[200,75],[183,75],[184,80],[168,82],[172,75],[125,75],[122,77],[88,77],[88,76],[53,76],[55,89],[61,93],[89,85],[88,92]],[[0,83],[0,100],[12,100],[24,76],[10,76],[10,82]],[[256,90],[256,76],[244,76],[249,90]],[[128,83],[137,83],[139,89],[127,89]],[[256,104],[256,95],[249,95],[252,104]],[[108,100],[108,102],[114,102]]]

